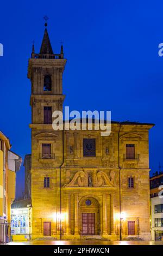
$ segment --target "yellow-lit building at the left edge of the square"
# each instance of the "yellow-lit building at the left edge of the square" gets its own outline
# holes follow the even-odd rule
[[[0,242],[10,239],[10,211],[15,199],[16,171],[22,159],[10,150],[9,139],[0,132]]]

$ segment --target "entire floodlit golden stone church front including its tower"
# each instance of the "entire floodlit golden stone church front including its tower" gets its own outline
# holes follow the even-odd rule
[[[48,236],[54,239],[77,240],[96,236],[119,240],[120,230],[122,239],[129,236],[128,225],[133,222],[134,234],[131,236],[139,234],[148,240],[148,130],[153,124],[112,122],[110,136],[101,136],[100,130],[54,131],[52,124],[43,121],[43,108],[51,106],[52,112],[62,110],[65,64],[62,47],[60,55],[36,54],[33,49],[29,59],[32,239],[47,235],[44,229],[48,222]],[[51,76],[51,91],[43,91],[46,75]],[[96,156],[84,157],[84,139],[96,140]],[[51,144],[51,157],[42,158],[42,144]],[[134,144],[137,157],[126,159],[127,144]],[[46,188],[45,177],[49,177],[49,187]],[[129,177],[134,178],[134,187],[128,187]],[[86,204],[87,200],[90,205]],[[89,216],[92,231],[87,232]]]

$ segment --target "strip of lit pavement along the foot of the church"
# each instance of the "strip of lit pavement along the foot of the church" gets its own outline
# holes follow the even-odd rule
[[[55,241],[55,240],[33,240],[13,241],[7,245],[163,245],[163,241]]]

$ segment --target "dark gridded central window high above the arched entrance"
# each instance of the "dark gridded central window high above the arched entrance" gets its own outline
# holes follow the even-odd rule
[[[83,139],[83,156],[96,157],[96,139]]]

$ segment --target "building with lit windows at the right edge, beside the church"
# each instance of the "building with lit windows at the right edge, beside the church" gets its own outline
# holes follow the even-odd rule
[[[163,172],[150,178],[152,240],[163,241]]]

